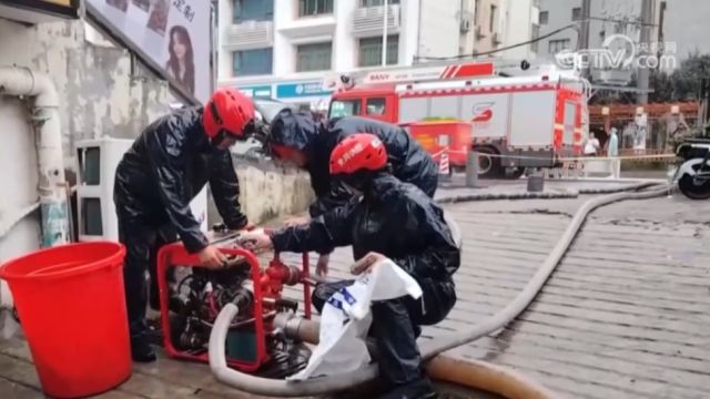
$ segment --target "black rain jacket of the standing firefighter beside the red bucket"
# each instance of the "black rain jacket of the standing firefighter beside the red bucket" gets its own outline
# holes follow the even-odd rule
[[[178,110],[151,123],[123,155],[113,191],[116,213],[128,229],[171,224],[190,253],[200,252],[209,242],[190,202],[207,182],[224,224],[244,227],[230,151],[210,143],[202,108]]]

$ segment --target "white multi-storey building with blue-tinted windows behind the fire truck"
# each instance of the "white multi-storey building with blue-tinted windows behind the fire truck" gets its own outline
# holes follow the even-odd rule
[[[327,75],[474,54],[504,45],[507,34],[525,41],[531,33],[530,17],[523,19],[523,29],[510,33],[505,19],[530,16],[532,0],[386,3],[220,0],[219,84],[237,86],[254,96],[325,108],[331,92],[322,82]],[[514,4],[527,4],[527,11],[508,10]],[[477,35],[478,31],[485,34]]]

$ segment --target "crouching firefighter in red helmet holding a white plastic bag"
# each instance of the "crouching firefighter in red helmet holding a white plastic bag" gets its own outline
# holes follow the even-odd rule
[[[389,388],[384,398],[433,398],[416,338],[420,326],[439,323],[456,303],[453,275],[460,264],[458,229],[429,195],[390,173],[385,145],[375,135],[345,137],[333,150],[329,171],[358,202],[271,235],[247,234],[243,242],[276,253],[328,253],[352,245],[358,259],[353,274],[387,257],[413,276],[423,297],[374,303],[371,334],[377,344],[381,376]],[[349,284],[318,285],[314,305],[322,310],[331,295]]]

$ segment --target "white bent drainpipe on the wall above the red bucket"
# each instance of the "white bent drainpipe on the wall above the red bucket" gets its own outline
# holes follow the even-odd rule
[[[32,96],[30,122],[34,127],[39,163],[42,246],[69,242],[64,158],[59,98],[52,80],[29,68],[0,66],[0,95]]]

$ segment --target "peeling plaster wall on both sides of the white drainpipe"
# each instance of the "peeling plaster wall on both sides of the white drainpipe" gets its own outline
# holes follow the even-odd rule
[[[172,101],[165,83],[140,69],[138,74],[143,78],[133,79],[128,54],[108,42],[89,43],[87,34],[95,38],[97,32],[87,32],[82,21],[28,27],[0,18],[0,65],[29,66],[47,73],[57,85],[64,164],[70,170],[74,170],[78,140],[134,137],[169,110]],[[0,226],[38,200],[37,154],[27,104],[0,98]],[[38,246],[36,212],[0,238],[0,262]]]

